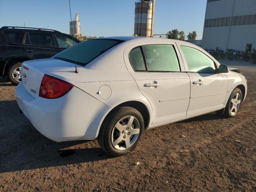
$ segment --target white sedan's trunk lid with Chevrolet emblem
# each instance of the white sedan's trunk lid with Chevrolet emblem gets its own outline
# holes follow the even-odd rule
[[[37,98],[44,74],[74,84],[80,79],[74,71],[73,63],[54,58],[25,61],[22,63],[22,84],[28,94]]]

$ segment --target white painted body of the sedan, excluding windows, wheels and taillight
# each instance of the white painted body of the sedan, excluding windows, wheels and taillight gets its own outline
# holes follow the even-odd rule
[[[217,66],[220,64],[204,50],[193,44],[159,38],[113,37],[125,40],[106,51],[86,66],[57,59],[24,62],[26,80],[16,88],[16,100],[33,126],[51,140],[93,140],[108,113],[124,102],[141,102],[148,109],[147,128],[184,120],[224,108],[230,93],[238,85],[246,88],[246,79],[236,72],[200,76],[188,73],[180,44],[199,49]],[[144,44],[174,45],[181,72],[134,72],[129,52]],[[44,74],[54,76],[74,87],[57,99],[38,96]],[[204,84],[192,84],[201,79]],[[26,84],[25,84],[26,81]],[[144,86],[157,82],[157,87]],[[35,92],[32,92],[33,89]],[[190,91],[191,89],[191,91]],[[246,92],[245,92],[246,95]]]

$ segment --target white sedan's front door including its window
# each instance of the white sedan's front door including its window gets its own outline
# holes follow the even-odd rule
[[[187,116],[224,108],[228,89],[226,74],[219,74],[216,63],[196,46],[177,43],[190,77],[190,102]]]

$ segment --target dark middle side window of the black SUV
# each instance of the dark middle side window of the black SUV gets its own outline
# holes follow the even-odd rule
[[[44,33],[29,33],[30,42],[32,45],[53,47],[52,34]]]

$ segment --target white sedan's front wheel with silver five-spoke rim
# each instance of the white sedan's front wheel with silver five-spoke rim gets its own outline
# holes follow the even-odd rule
[[[242,104],[242,99],[243,96],[241,90],[239,88],[235,88],[228,99],[226,107],[222,110],[217,111],[216,114],[226,117],[236,116]]]

